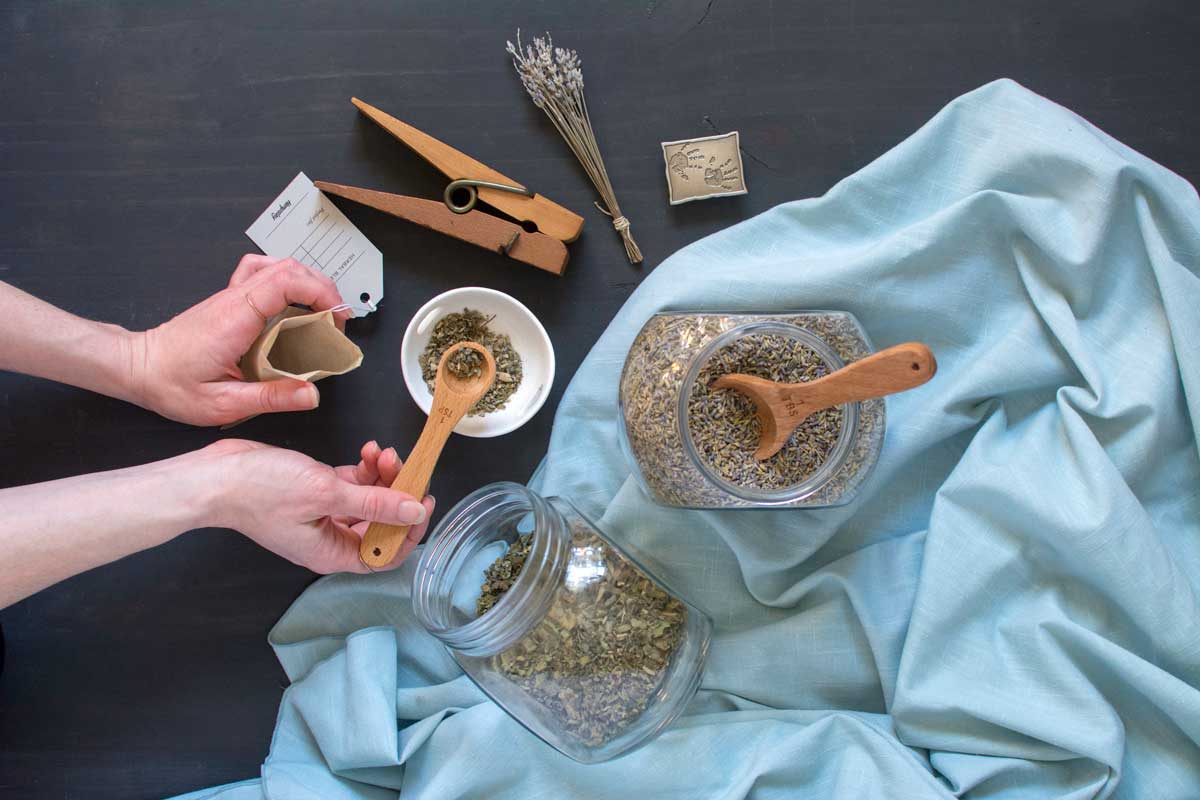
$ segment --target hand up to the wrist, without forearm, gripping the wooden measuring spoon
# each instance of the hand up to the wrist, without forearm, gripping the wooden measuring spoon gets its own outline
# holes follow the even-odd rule
[[[401,462],[392,449],[370,441],[356,467],[328,467],[307,456],[240,439],[194,453],[197,480],[216,481],[212,523],[233,528],[313,572],[367,572],[359,543],[370,522],[413,525],[425,535],[433,498],[424,503],[394,492]],[[397,554],[398,566],[412,547]]]

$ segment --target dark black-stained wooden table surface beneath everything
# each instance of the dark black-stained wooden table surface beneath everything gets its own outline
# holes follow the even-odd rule
[[[358,95],[587,217],[564,278],[343,206],[383,249],[386,297],[352,324],[364,366],[318,411],[238,435],[346,463],[402,451],[420,413],[400,337],[432,295],[515,295],[558,355],[546,408],[450,444],[443,510],[524,480],[613,313],[674,249],[820,196],[944,103],[1010,77],[1195,181],[1195,4],[1024,0],[2,2],[0,279],[70,311],[152,326],[220,289],[242,230],[299,170],[439,197],[444,180],[349,104]],[[584,62],[596,134],[646,264],[504,55],[521,26]],[[738,130],[750,194],[670,207],[659,142]],[[746,276],[754,279],[752,276]],[[221,434],[0,374],[0,486],[163,458]],[[179,537],[0,612],[0,795],[156,798],[252,777],[283,688],[265,636],[312,576],[239,535]]]

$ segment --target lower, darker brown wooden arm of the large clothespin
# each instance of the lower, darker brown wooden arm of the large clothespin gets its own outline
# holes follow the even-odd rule
[[[442,200],[376,192],[328,181],[313,181],[313,185],[326,194],[344,197],[552,275],[562,275],[566,269],[566,245],[562,241],[545,234],[529,233],[516,223],[484,211],[455,213]]]

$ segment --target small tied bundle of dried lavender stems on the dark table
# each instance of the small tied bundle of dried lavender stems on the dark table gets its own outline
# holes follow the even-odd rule
[[[612,227],[625,242],[630,264],[641,263],[642,251],[629,233],[629,219],[622,215],[617,204],[617,194],[612,191],[612,181],[608,180],[608,172],[600,157],[600,145],[592,132],[592,118],[588,116],[588,104],[583,100],[583,68],[578,54],[554,47],[550,34],[546,34],[546,38],[535,38],[533,44],[522,49],[520,30],[517,43],[508,42],[508,52],[533,104],[546,113],[595,184],[604,200],[604,206],[596,203],[596,207],[612,217]]]

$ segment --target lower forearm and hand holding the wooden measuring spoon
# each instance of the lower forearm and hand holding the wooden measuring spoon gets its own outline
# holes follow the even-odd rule
[[[358,467],[326,467],[252,441],[218,441],[166,461],[0,489],[0,608],[72,575],[221,525],[317,572],[366,572],[366,521],[415,524],[425,534],[433,498],[420,504],[383,488],[395,450],[373,441]]]

